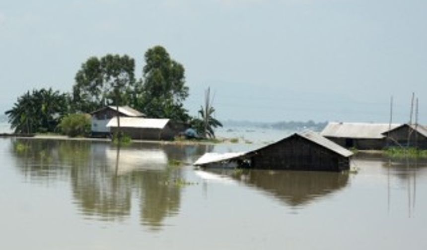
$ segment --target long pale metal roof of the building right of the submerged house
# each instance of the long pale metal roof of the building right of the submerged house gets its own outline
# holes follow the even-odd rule
[[[391,129],[398,126],[400,124],[392,124]],[[328,123],[320,135],[338,138],[381,139],[385,137],[382,133],[388,130],[388,124]]]

